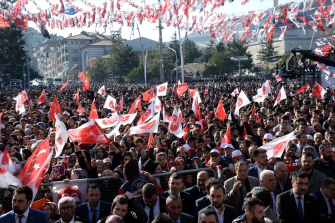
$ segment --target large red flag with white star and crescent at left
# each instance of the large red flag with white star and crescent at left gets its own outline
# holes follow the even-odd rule
[[[32,188],[34,199],[40,183],[49,168],[52,151],[49,148],[49,136],[47,136],[31,154],[18,175],[22,185]]]

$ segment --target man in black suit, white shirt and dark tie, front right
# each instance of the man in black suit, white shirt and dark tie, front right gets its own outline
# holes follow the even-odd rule
[[[293,172],[292,186],[292,189],[277,196],[276,210],[279,222],[320,222],[317,201],[307,194],[307,175],[302,171]]]

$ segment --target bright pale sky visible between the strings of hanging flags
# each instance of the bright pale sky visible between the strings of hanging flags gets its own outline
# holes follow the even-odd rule
[[[56,2],[57,0],[50,0],[51,2]],[[103,2],[105,2],[106,0],[88,0],[92,3],[94,3],[95,5],[100,5]],[[133,0],[134,2],[140,4],[141,0]],[[155,2],[157,2],[158,0],[145,0],[145,2],[147,4],[153,4]],[[224,6],[221,6],[219,9],[217,9],[216,12],[222,12],[222,13],[236,13],[236,12],[247,12],[247,11],[251,11],[251,10],[260,10],[260,9],[267,9],[267,8],[271,8],[273,7],[273,0],[263,0],[262,2],[260,2],[259,0],[250,0],[249,2],[247,2],[244,6],[241,5],[241,1],[242,0],[234,0],[233,2],[229,3],[228,1],[225,1]],[[296,2],[301,2],[303,0],[296,0]],[[46,3],[45,0],[35,0],[36,3],[39,4],[40,8],[47,8],[48,4]],[[101,2],[101,3],[99,3]],[[116,2],[116,1],[115,1]],[[278,4],[285,4],[287,2],[291,2],[289,0],[278,0]],[[126,5],[127,3],[125,3]],[[300,9],[301,9],[302,5],[300,5]],[[31,12],[35,12],[37,11],[37,9],[33,6],[33,5],[27,5],[27,8],[29,8],[31,10]],[[131,7],[124,7],[123,10],[129,10]],[[193,12],[195,14],[197,14],[198,12]],[[194,14],[193,14],[194,15]],[[138,38],[139,37],[139,33],[137,30],[137,25],[135,22],[135,27],[132,29],[131,27],[127,27],[126,26],[126,22],[124,22],[124,26],[121,29],[121,36],[122,38],[125,39],[132,39],[132,38]],[[33,22],[28,22],[28,26],[33,27],[35,29],[37,29],[37,26],[33,23]],[[138,24],[139,27],[139,32],[140,35],[146,38],[150,38],[153,40],[158,41],[158,37],[159,37],[159,33],[158,33],[158,29],[156,28],[156,26],[158,26],[158,22],[156,24],[151,24],[148,23],[146,21],[143,21],[142,24]],[[118,30],[120,27],[120,25],[118,23],[114,23],[112,27],[106,27],[106,32],[104,34],[106,35],[110,35],[110,29],[112,30]],[[173,34],[174,31],[176,31],[176,29],[174,27],[166,27],[163,24],[163,29],[162,29],[162,40],[163,42],[169,41],[171,35]],[[61,35],[63,37],[67,37],[70,33],[72,33],[72,35],[76,35],[79,34],[82,30],[87,31],[87,32],[94,32],[94,31],[98,31],[99,33],[102,33],[104,31],[104,28],[95,28],[95,27],[84,27],[82,29],[79,28],[67,28],[67,29],[51,29],[50,27],[47,27],[49,33],[53,33],[53,34],[57,34],[57,35]],[[188,32],[189,33],[189,32]],[[184,36],[185,32],[182,31],[181,32],[181,36]]]

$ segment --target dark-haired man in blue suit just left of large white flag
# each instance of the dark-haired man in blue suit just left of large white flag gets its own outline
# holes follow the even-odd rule
[[[273,170],[270,166],[267,166],[267,155],[266,150],[263,148],[257,148],[253,152],[253,157],[256,161],[256,165],[249,168],[249,176],[253,176],[259,179],[259,173],[264,169]]]

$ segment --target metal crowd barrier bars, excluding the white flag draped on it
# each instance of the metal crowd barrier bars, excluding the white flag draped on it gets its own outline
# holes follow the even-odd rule
[[[184,187],[190,187],[196,184],[196,174],[199,171],[207,171],[209,174],[209,177],[217,177],[217,173],[214,169],[212,168],[198,168],[198,169],[188,169],[188,170],[183,170],[179,171],[179,173],[185,178],[188,175],[191,177],[191,182],[184,183]],[[157,183],[160,185],[160,187],[165,191],[168,189],[168,177],[171,175],[171,172],[164,172],[164,173],[159,173],[159,174],[153,174],[152,176],[155,178]],[[118,195],[118,190],[119,187],[122,185],[124,182],[124,179],[118,178],[115,179],[114,176],[105,176],[105,177],[98,177],[98,178],[87,178],[87,179],[75,179],[75,180],[70,180],[70,182],[82,182],[86,180],[86,184],[89,185],[90,183],[97,183],[100,185],[101,189],[101,198],[100,200],[107,201],[107,202],[112,202],[112,199],[114,196]],[[77,183],[77,184],[78,184]],[[34,201],[45,198],[46,193],[51,193],[52,191],[52,186],[54,185],[59,185],[63,184],[63,181],[55,181],[55,182],[48,182],[48,183],[41,183],[37,194],[34,198]],[[4,211],[8,212],[10,211],[11,208],[11,199],[12,199],[12,192],[15,190],[15,187],[6,187],[6,188],[0,188],[0,204],[3,206]],[[52,194],[51,197],[48,197],[52,201]]]

